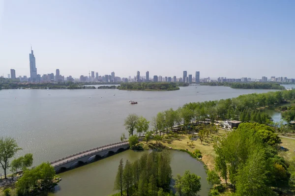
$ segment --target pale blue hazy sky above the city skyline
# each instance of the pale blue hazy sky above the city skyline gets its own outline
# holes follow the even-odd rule
[[[0,0],[0,75],[295,78],[295,0]]]

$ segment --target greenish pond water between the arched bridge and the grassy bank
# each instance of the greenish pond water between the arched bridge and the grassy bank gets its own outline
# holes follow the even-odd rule
[[[127,150],[89,165],[60,173],[62,180],[56,187],[56,192],[49,196],[108,196],[114,191],[114,181],[119,161],[123,158],[133,162],[145,152]],[[207,174],[203,164],[189,154],[171,150],[171,168],[173,176],[182,175],[186,169],[201,176],[202,190],[200,196],[207,196],[210,186],[207,184]],[[185,161],[181,161],[185,160]]]

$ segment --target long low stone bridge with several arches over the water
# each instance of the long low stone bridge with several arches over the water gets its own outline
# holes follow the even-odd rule
[[[59,160],[51,162],[50,165],[54,167],[56,172],[59,172],[61,170],[75,168],[78,165],[92,162],[98,158],[107,157],[108,155],[115,154],[128,148],[128,141],[112,143],[63,157]]]

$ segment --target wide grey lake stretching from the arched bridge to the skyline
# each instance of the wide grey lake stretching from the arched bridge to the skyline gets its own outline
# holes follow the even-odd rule
[[[120,134],[127,133],[123,122],[129,113],[150,120],[157,112],[188,102],[267,91],[224,86],[187,86],[177,91],[0,90],[0,136],[15,138],[23,148],[19,154],[33,153],[36,165],[118,142]],[[130,105],[130,100],[139,104]]]

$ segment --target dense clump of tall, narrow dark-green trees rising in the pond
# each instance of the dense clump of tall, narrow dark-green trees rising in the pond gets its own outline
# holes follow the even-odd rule
[[[126,196],[155,196],[168,192],[172,179],[171,157],[168,151],[143,154],[139,160],[130,163],[120,160],[115,189]]]

